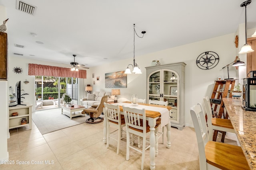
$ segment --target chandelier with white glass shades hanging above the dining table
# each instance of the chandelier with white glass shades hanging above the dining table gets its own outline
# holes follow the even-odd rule
[[[135,63],[135,33],[136,33],[136,31],[135,31],[135,24],[133,24],[133,29],[134,29],[134,31],[133,31],[133,65],[132,64],[128,64],[124,74],[132,74],[132,72],[134,74],[142,74],[142,72],[140,70],[140,67],[138,66],[137,63]],[[142,31],[141,33],[143,34],[142,37],[138,36],[138,34],[136,33],[137,37],[143,38],[144,37],[144,33],[146,33],[146,31]],[[133,68],[132,72],[131,72],[131,70],[129,68],[129,65],[131,65],[132,68]]]

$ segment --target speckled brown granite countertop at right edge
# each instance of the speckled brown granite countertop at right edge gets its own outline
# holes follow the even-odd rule
[[[256,111],[245,110],[242,99],[222,100],[248,165],[252,170],[256,170]]]

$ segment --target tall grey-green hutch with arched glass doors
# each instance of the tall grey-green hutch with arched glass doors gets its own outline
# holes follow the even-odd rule
[[[170,121],[182,130],[184,122],[185,63],[146,67],[147,103],[149,100],[168,101],[172,106]]]

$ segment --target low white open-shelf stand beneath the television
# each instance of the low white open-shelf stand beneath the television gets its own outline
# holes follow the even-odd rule
[[[9,107],[9,129],[26,125],[29,125],[29,129],[32,128],[32,105],[28,103],[25,104],[26,106],[17,105]],[[12,113],[14,112],[18,112],[18,116],[12,116]],[[26,118],[26,124],[21,123],[23,118]]]

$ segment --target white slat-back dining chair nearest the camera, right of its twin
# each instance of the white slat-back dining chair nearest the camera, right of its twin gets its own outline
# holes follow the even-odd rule
[[[130,157],[130,148],[134,149],[140,153],[142,153],[142,160],[141,160],[141,170],[144,168],[144,159],[145,159],[145,152],[148,148],[150,148],[150,144],[146,146],[146,142],[150,142],[146,137],[150,134],[150,126],[148,125],[148,121],[146,121],[146,113],[145,109],[136,109],[130,107],[124,107],[124,119],[126,124],[126,160],[129,160]],[[158,119],[156,121],[157,128],[161,123],[161,120]],[[130,141],[130,133],[141,137],[142,138],[142,149],[138,149],[133,145],[130,145],[132,141],[136,139],[136,137],[132,138]],[[156,133],[156,130],[155,130]],[[158,140],[156,139],[156,147],[158,147]],[[157,148],[156,148],[157,150]]]

